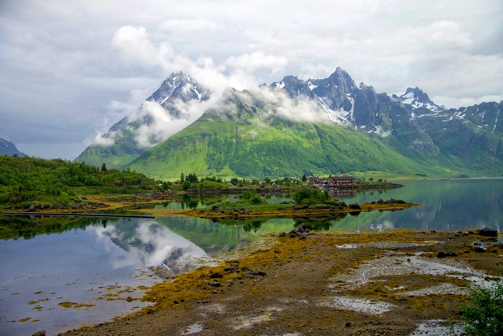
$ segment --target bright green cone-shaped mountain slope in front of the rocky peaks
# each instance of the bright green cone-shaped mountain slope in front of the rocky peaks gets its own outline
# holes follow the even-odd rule
[[[458,174],[413,160],[382,142],[334,123],[295,122],[249,92],[229,92],[192,125],[133,160],[150,176],[284,177],[379,171]]]

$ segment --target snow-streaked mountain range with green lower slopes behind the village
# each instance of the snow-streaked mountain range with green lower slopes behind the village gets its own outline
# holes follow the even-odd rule
[[[187,119],[184,106],[204,106],[210,97],[210,90],[178,72],[146,102],[180,120]],[[323,79],[289,75],[254,90],[228,89],[176,134],[163,139],[151,133],[149,146],[139,134],[156,129],[156,119],[142,106],[138,117],[119,121],[104,135],[110,143],[89,146],[77,160],[127,166],[164,179],[182,172],[501,176],[502,104],[445,109],[418,88],[389,96],[364,83],[357,86],[338,67]]]

